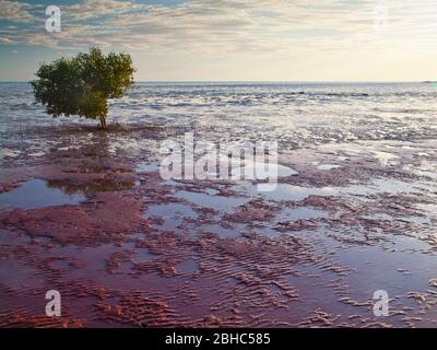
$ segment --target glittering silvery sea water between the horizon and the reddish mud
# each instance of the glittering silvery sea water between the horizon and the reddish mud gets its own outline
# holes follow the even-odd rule
[[[291,148],[437,137],[437,86],[426,83],[138,83],[111,101],[109,122],[158,124],[212,138],[277,140]],[[0,83],[3,142],[23,128],[95,120],[51,118],[27,83]]]

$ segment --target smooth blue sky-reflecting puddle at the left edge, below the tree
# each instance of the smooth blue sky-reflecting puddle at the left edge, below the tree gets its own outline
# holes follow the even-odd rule
[[[31,179],[9,192],[0,195],[1,207],[16,209],[39,209],[52,206],[78,205],[86,198],[82,194],[68,194],[52,188],[42,179]]]

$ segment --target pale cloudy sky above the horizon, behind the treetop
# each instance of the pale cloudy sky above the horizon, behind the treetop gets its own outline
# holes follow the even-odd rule
[[[1,81],[91,46],[138,81],[437,80],[437,1],[0,0]]]

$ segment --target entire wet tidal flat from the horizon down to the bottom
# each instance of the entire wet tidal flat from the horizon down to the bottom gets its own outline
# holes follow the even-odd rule
[[[26,108],[2,102],[0,326],[437,326],[432,88],[144,85],[107,132],[7,88]],[[276,189],[162,179],[187,130],[277,139]]]

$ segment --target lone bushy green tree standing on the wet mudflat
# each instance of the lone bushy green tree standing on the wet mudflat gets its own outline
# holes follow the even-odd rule
[[[32,81],[35,100],[47,113],[99,118],[106,128],[108,98],[119,98],[133,85],[132,59],[129,54],[108,54],[92,48],[88,54],[43,63]]]

